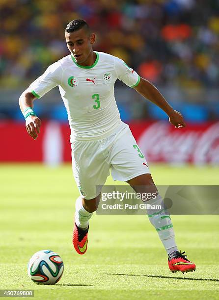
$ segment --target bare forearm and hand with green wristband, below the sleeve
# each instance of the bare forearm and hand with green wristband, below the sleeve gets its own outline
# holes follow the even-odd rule
[[[24,116],[28,114],[28,111],[31,112],[31,110],[33,109],[33,100],[35,99],[36,97],[31,92],[28,92],[27,90],[21,94],[19,98],[19,105]],[[37,116],[34,116],[33,114],[27,116],[26,118],[27,133],[34,140],[37,139],[38,134],[40,133],[40,126],[41,126],[41,120]]]

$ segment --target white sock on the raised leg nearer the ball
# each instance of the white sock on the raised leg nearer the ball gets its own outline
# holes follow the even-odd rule
[[[82,205],[82,198],[79,197],[75,202],[75,223],[81,228],[87,228],[89,225],[89,219],[93,213],[89,213]]]

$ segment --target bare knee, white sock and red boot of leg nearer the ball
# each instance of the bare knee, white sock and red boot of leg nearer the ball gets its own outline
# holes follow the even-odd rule
[[[79,254],[84,254],[87,250],[89,220],[100,202],[100,195],[93,199],[83,199],[79,197],[75,205],[75,225],[72,242],[75,250]]]

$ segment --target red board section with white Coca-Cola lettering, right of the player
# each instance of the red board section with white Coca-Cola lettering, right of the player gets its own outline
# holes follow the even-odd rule
[[[219,164],[219,122],[177,130],[166,122],[130,124],[149,162]]]

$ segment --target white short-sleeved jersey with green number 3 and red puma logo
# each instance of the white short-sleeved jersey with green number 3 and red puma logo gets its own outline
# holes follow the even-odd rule
[[[139,75],[122,59],[104,52],[95,53],[92,66],[78,65],[72,55],[63,57],[28,88],[35,97],[41,98],[58,85],[68,113],[71,142],[104,138],[121,125],[114,83],[118,78],[135,87],[140,81]]]

